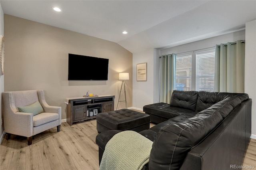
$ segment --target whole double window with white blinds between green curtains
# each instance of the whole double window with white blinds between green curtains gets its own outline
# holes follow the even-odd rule
[[[175,89],[214,91],[215,48],[176,55]]]

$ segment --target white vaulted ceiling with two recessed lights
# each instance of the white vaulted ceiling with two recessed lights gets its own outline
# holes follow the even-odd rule
[[[132,53],[242,30],[256,19],[256,0],[1,0],[1,5],[4,14],[116,42]]]

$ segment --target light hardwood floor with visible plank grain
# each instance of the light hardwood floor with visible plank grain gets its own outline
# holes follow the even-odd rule
[[[150,125],[152,127],[154,125]],[[56,128],[34,136],[32,145],[27,139],[11,135],[0,146],[1,170],[98,170],[96,120]],[[256,140],[251,139],[243,165],[256,170]]]

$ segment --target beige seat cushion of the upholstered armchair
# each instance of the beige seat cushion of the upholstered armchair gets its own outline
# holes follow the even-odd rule
[[[58,113],[40,113],[38,115],[35,115],[33,117],[33,125],[34,127],[43,125],[45,123],[49,123],[51,121],[55,121],[59,119]]]

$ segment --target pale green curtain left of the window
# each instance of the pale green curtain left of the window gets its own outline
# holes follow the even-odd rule
[[[160,102],[170,103],[175,89],[175,61],[174,53],[160,57]]]

